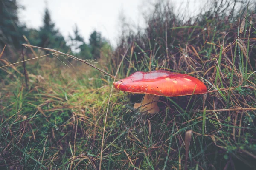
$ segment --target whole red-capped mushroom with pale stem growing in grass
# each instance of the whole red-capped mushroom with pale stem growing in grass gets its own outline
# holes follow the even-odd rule
[[[113,85],[120,91],[145,94],[143,101],[135,103],[134,108],[137,109],[141,106],[140,112],[147,111],[151,115],[159,112],[155,101],[158,101],[160,96],[186,96],[207,92],[204,83],[195,77],[164,70],[138,71],[125,79],[114,82]],[[150,104],[146,105],[147,103]]]

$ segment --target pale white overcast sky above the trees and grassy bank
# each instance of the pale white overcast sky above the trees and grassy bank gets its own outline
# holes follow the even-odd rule
[[[88,42],[93,30],[102,33],[112,45],[116,45],[119,16],[124,14],[129,22],[144,26],[142,12],[149,5],[149,0],[19,0],[24,10],[19,17],[28,28],[38,29],[42,26],[44,10],[49,8],[52,21],[65,38],[77,24],[81,35]],[[150,0],[154,2],[155,0]],[[178,6],[187,0],[170,0]],[[189,0],[195,5],[204,0]],[[47,3],[46,3],[47,2]],[[47,4],[47,5],[46,5]],[[194,6],[193,6],[194,7]]]

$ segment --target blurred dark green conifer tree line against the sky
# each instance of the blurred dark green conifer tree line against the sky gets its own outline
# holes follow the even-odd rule
[[[0,0],[0,51],[4,45],[19,50],[25,42],[23,35],[32,45],[44,48],[53,48],[62,52],[71,52],[83,59],[97,59],[100,57],[100,49],[108,42],[96,30],[90,34],[89,43],[79,33],[77,25],[74,26],[73,34],[66,39],[55,27],[51,19],[49,9],[46,7],[39,29],[27,28],[18,17],[19,6],[17,0]]]

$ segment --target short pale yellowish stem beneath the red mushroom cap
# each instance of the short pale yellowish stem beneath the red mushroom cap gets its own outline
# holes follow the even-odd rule
[[[135,103],[134,108],[137,109],[141,106],[140,113],[147,111],[148,114],[153,115],[153,114],[159,112],[157,102],[154,102],[154,101],[159,100],[159,98],[160,98],[160,96],[156,96],[154,94],[145,94],[143,101],[141,103]],[[150,102],[152,102],[152,103],[150,103]],[[145,105],[147,103],[150,103],[150,104]],[[145,105],[145,106],[143,106],[143,105]]]

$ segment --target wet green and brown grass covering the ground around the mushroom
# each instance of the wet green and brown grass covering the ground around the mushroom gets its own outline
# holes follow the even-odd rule
[[[155,10],[143,36],[92,63],[110,76],[65,54],[65,64],[26,62],[27,88],[22,63],[1,68],[0,169],[255,169],[255,14],[189,25]],[[161,97],[160,113],[142,116],[132,105],[143,95],[111,90],[114,77],[155,69],[197,77],[208,92]]]

